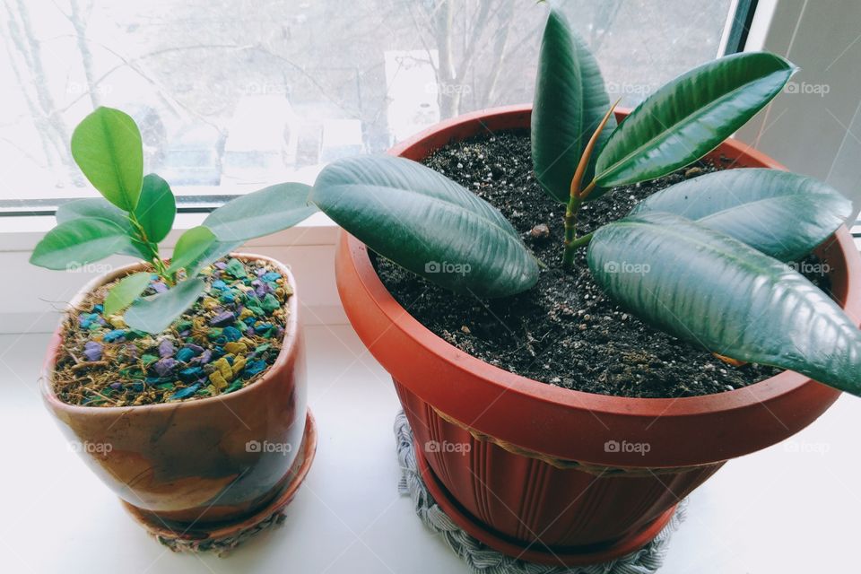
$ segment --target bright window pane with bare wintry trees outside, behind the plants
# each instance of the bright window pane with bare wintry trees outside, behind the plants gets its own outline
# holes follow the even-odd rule
[[[628,106],[717,57],[735,4],[567,3]],[[145,169],[179,195],[313,181],[326,161],[531,100],[545,17],[523,0],[3,0],[0,201],[92,195],[69,138],[99,105],[135,117]]]

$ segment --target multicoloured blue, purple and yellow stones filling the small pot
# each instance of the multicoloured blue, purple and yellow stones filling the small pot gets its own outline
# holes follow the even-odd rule
[[[52,383],[68,404],[128,406],[232,393],[261,378],[281,351],[290,283],[272,265],[222,260],[206,291],[159,335],[105,317],[113,283],[88,295],[65,322]],[[117,280],[118,281],[118,280]],[[152,275],[143,296],[167,286]]]

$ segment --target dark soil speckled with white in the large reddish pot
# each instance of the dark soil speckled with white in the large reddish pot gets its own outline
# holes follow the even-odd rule
[[[513,297],[479,300],[446,291],[383,257],[372,256],[380,279],[404,309],[458,349],[518,375],[612,396],[709,395],[780,372],[756,363],[735,367],[644,324],[605,297],[594,283],[586,248],[579,249],[575,269],[563,271],[565,208],[546,196],[535,179],[528,132],[453,143],[424,163],[497,207],[546,265],[533,289]],[[581,208],[578,233],[622,217],[659,189],[721,167],[700,162],[665,178],[617,187]],[[822,274],[808,274],[808,278],[827,291]]]

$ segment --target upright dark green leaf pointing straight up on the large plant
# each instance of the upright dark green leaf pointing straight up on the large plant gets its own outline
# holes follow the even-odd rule
[[[567,203],[571,179],[589,138],[610,109],[604,78],[586,42],[559,10],[544,27],[532,109],[532,158],[535,175],[548,195]],[[598,137],[599,151],[616,126],[611,117]],[[592,180],[597,154],[583,181]],[[596,189],[589,200],[601,196]]]

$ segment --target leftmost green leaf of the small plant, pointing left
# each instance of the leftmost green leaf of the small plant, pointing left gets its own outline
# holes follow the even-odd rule
[[[74,219],[48,231],[33,249],[30,263],[48,269],[74,270],[131,248],[131,239],[116,223],[95,218]]]

